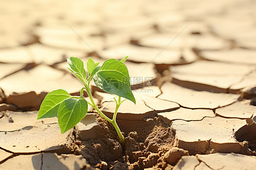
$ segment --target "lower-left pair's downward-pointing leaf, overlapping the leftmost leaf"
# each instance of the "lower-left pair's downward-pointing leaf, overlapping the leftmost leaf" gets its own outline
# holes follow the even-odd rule
[[[61,102],[58,112],[58,123],[61,134],[72,129],[87,114],[88,104],[83,98],[72,97]]]

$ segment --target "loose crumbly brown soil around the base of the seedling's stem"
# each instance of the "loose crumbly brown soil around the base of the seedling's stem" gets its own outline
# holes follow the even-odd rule
[[[88,163],[102,170],[164,169],[164,154],[173,147],[175,132],[159,117],[147,120],[119,120],[125,136],[126,150],[122,150],[118,135],[108,121],[97,117],[100,130],[97,139],[79,140],[76,136],[73,150],[82,154]]]

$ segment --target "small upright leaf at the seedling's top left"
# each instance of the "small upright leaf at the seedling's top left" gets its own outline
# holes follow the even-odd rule
[[[83,79],[83,81],[82,80],[81,81],[84,82],[84,80],[86,80],[86,71],[84,70],[83,61],[77,57],[70,57],[69,59],[67,59],[67,63],[70,66],[70,68],[73,70],[72,73],[80,75],[80,77]]]

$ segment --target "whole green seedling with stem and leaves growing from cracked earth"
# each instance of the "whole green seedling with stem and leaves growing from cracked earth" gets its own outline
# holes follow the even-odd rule
[[[98,66],[99,63],[95,63],[92,58],[89,58],[87,61],[88,75],[86,74],[82,60],[77,57],[70,57],[67,59],[68,65],[70,66],[68,69],[84,85],[80,90],[80,96],[71,96],[67,91],[62,89],[51,91],[43,100],[40,110],[38,111],[37,119],[57,116],[61,134],[63,134],[67,130],[72,129],[86,116],[89,104],[115,127],[120,138],[120,143],[124,148],[125,142],[123,135],[116,123],[118,108],[123,101],[127,99],[136,104],[136,100],[131,90],[129,72],[124,64],[127,58],[128,56],[120,61],[116,59],[108,59],[102,66]],[[112,119],[104,115],[95,104],[90,90],[90,82],[92,79],[101,90],[109,94],[117,95],[113,98],[116,102],[116,108]],[[87,92],[91,102],[88,102],[83,98],[83,90]],[[116,97],[118,97],[118,99],[116,99]],[[121,97],[125,99],[121,100]]]

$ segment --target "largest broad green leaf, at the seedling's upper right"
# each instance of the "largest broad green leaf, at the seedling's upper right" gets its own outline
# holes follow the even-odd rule
[[[126,65],[116,59],[108,59],[101,66],[100,70],[93,76],[94,83],[101,90],[131,100],[133,96],[129,72]]]

